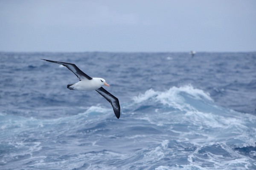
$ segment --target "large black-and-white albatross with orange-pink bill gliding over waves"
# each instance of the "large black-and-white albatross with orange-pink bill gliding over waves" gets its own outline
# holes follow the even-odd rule
[[[80,91],[96,90],[100,95],[102,95],[105,99],[107,99],[108,102],[111,103],[111,105],[113,107],[113,111],[116,115],[116,118],[119,119],[119,117],[120,117],[119,100],[102,87],[103,85],[105,85],[107,87],[110,86],[106,83],[105,79],[98,78],[98,77],[90,77],[87,74],[85,74],[83,71],[81,71],[75,64],[72,64],[72,63],[58,62],[58,61],[52,61],[52,60],[48,60],[48,59],[43,59],[43,60],[61,64],[61,65],[64,65],[65,67],[67,67],[80,80],[79,82],[77,82],[75,84],[68,84],[67,88],[70,90],[80,90]]]

